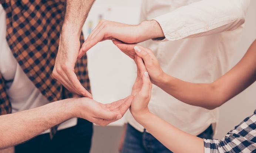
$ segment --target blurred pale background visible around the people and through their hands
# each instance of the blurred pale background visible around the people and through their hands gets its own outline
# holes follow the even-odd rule
[[[138,24],[141,0],[96,0],[84,24],[85,38],[102,19]],[[250,44],[256,39],[256,1],[251,0],[246,15],[245,30],[238,45],[232,67],[243,57]],[[112,41],[104,41],[87,52],[88,70],[93,98],[109,103],[125,98],[131,93],[136,67],[133,60],[117,49]],[[230,67],[231,68],[231,67]],[[223,104],[215,139],[222,139],[226,133],[238,125],[256,109],[256,83]],[[118,153],[124,119],[101,127],[94,126],[91,153]]]

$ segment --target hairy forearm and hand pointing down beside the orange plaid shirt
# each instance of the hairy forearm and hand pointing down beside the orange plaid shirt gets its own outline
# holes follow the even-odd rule
[[[69,91],[82,97],[92,95],[81,85],[74,72],[80,49],[82,26],[95,0],[67,0],[66,12],[60,34],[58,54],[53,69],[53,77]]]

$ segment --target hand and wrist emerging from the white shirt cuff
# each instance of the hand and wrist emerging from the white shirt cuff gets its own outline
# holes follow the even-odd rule
[[[127,44],[136,44],[163,36],[161,26],[155,20],[143,21],[139,25],[101,20],[85,40],[78,53],[78,58],[81,58],[92,46],[101,41],[118,39]]]

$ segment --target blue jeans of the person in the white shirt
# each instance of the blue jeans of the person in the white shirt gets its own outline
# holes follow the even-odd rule
[[[210,125],[204,132],[198,135],[200,138],[212,139],[213,131]],[[171,142],[170,142],[171,143]],[[124,138],[122,153],[172,153],[168,148],[162,145],[150,133],[139,132],[131,125],[127,125],[127,131]]]

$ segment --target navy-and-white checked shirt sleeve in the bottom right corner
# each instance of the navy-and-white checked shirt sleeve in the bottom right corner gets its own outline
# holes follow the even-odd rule
[[[205,153],[256,153],[256,110],[222,140],[204,139]]]

